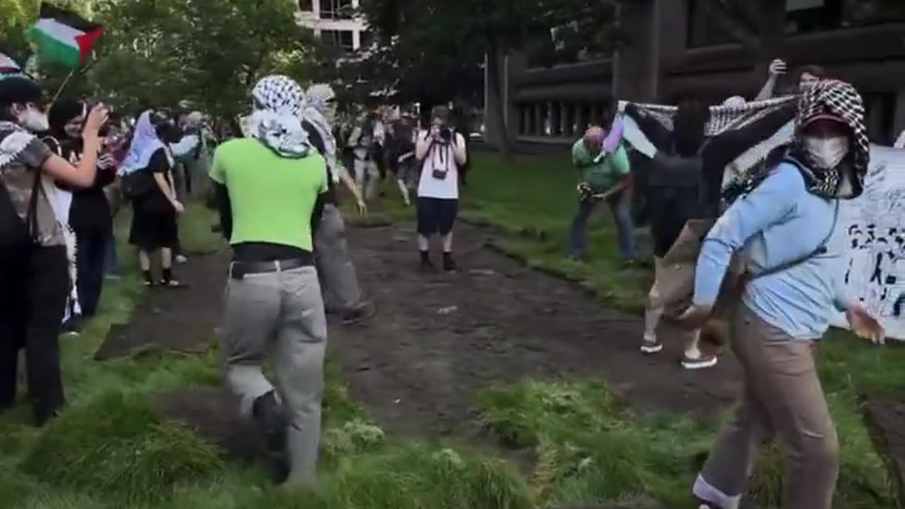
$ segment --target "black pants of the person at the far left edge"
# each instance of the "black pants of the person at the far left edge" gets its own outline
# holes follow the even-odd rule
[[[18,353],[38,424],[65,403],[60,327],[69,288],[66,248],[36,247],[0,258],[0,410],[15,404]]]

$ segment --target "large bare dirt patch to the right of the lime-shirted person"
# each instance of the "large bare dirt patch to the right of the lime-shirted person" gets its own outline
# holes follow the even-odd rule
[[[331,353],[383,426],[467,433],[476,390],[524,377],[603,377],[643,410],[710,412],[733,401],[733,362],[682,370],[674,341],[670,351],[642,356],[639,317],[606,311],[575,284],[491,251],[483,246],[487,235],[459,226],[462,272],[422,274],[412,226],[349,233],[359,279],[379,314],[360,326],[332,326]]]

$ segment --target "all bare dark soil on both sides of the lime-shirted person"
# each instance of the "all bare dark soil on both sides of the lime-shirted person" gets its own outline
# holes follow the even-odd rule
[[[669,331],[662,333],[667,351],[644,357],[640,317],[607,311],[576,284],[488,249],[490,230],[458,228],[458,274],[418,271],[412,226],[350,228],[358,276],[378,313],[350,327],[331,322],[330,355],[382,427],[474,438],[476,391],[525,377],[605,378],[640,410],[707,414],[733,401],[734,361],[682,370],[681,345],[669,341]],[[205,351],[220,322],[227,264],[218,254],[180,266],[190,287],[149,292],[134,321],[110,331],[97,358],[155,345]],[[158,404],[233,455],[253,455],[253,433],[224,389],[179,391]]]

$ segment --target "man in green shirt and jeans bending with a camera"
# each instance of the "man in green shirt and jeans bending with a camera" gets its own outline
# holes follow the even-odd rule
[[[578,213],[572,221],[569,235],[572,258],[577,261],[584,259],[587,219],[597,203],[605,201],[610,206],[619,233],[619,250],[625,263],[632,264],[635,250],[628,154],[620,144],[612,153],[598,157],[604,139],[604,130],[592,127],[572,146],[572,162],[579,172]]]

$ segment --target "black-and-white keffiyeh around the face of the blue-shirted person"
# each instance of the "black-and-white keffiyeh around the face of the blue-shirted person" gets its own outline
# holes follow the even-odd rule
[[[817,116],[827,116],[843,122],[852,130],[850,156],[843,163],[831,169],[820,169],[814,164],[805,149],[803,128]],[[870,141],[864,127],[864,104],[861,94],[846,82],[824,80],[814,83],[798,101],[798,116],[795,119],[795,141],[791,155],[804,163],[808,190],[814,195],[827,198],[851,199],[861,196],[864,176],[870,162]],[[846,165],[849,165],[846,167]],[[810,177],[810,178],[807,178]],[[843,186],[848,179],[849,186]]]

